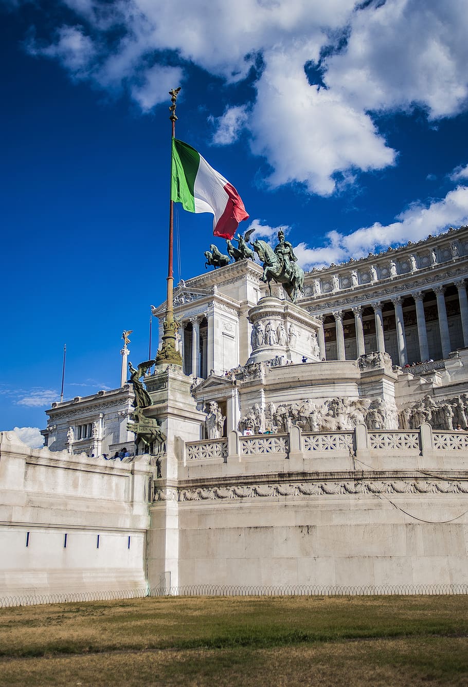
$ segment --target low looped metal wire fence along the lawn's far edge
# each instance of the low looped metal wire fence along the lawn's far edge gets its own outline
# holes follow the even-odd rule
[[[346,587],[332,585],[245,586],[185,585],[154,589],[114,589],[64,594],[25,594],[0,597],[0,608],[41,604],[111,601],[147,596],[442,596],[468,594],[468,585],[367,585]]]

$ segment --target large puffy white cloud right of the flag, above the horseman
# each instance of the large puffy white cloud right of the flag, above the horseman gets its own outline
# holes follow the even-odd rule
[[[392,165],[394,151],[368,115],[350,108],[339,93],[309,86],[304,61],[311,49],[302,45],[269,55],[249,126],[252,150],[274,168],[271,186],[300,181],[328,196],[337,172],[343,178],[348,170]]]

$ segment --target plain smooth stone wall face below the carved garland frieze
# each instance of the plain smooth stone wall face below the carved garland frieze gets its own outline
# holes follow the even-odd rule
[[[287,497],[181,504],[179,585],[468,584],[467,499]]]

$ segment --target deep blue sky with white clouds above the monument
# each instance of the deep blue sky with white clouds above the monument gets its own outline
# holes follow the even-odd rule
[[[177,136],[304,267],[468,223],[465,0],[0,0],[1,428],[113,388],[164,300]],[[212,216],[176,214],[175,278]],[[223,241],[215,240],[223,249]],[[180,261],[180,269],[179,269]]]

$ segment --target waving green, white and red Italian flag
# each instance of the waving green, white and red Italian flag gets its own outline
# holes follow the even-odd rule
[[[233,238],[239,223],[249,218],[234,186],[177,138],[172,139],[170,199],[189,212],[214,214],[213,234],[222,238]]]

